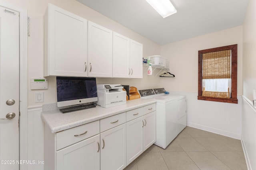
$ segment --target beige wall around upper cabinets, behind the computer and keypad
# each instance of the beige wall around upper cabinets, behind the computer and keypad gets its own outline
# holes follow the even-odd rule
[[[106,16],[84,6],[76,0],[4,0],[9,4],[19,6],[28,10],[28,17],[30,18],[30,37],[28,37],[28,106],[42,105],[56,103],[56,78],[48,78],[48,90],[30,90],[30,78],[43,76],[43,15],[46,11],[47,4],[52,3],[60,8],[68,10],[78,16],[82,16],[87,20],[98,23],[108,29],[116,31],[126,37],[134,39],[143,44],[143,57],[149,55],[159,55],[160,45],[142,37],[138,33],[120,25],[119,23],[110,20]],[[144,68],[144,72],[146,72]],[[105,79],[97,78],[97,84],[103,83],[120,83],[130,86],[143,88],[147,86],[158,87],[158,77],[148,77],[144,74],[143,80],[137,79]],[[35,103],[35,92],[44,92],[44,102]]]

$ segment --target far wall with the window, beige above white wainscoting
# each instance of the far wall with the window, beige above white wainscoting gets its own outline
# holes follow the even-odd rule
[[[238,104],[197,100],[198,51],[238,44]],[[187,124],[198,129],[241,139],[242,26],[161,46],[170,59],[175,78],[162,78],[161,87],[187,96]]]

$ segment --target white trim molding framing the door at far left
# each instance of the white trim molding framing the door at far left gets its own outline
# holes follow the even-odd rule
[[[20,13],[20,160],[28,160],[28,37],[27,10],[0,1],[0,6]],[[20,165],[27,170],[28,165]]]

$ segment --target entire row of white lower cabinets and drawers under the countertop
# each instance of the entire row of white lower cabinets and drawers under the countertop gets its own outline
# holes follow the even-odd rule
[[[51,133],[44,170],[122,170],[156,141],[156,104]]]

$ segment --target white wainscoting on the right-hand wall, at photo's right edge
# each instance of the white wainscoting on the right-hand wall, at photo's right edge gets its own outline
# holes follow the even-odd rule
[[[242,98],[242,146],[248,170],[256,170],[256,107]]]

